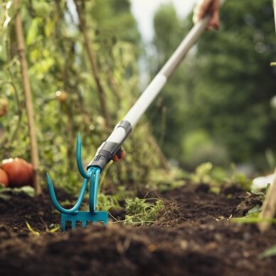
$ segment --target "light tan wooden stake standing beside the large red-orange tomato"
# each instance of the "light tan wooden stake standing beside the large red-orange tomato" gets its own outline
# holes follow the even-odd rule
[[[40,177],[39,177],[39,157],[38,157],[38,146],[36,142],[36,127],[34,123],[33,116],[33,103],[32,103],[32,95],[31,95],[31,86],[28,78],[28,65],[25,54],[25,46],[24,46],[24,36],[23,36],[23,28],[20,11],[18,9],[18,0],[14,0],[14,9],[16,11],[16,40],[18,46],[18,55],[21,65],[21,75],[23,82],[23,91],[25,96],[25,105],[28,117],[28,133],[30,136],[31,142],[31,163],[33,164],[33,181],[34,188],[36,190],[36,195],[41,194],[41,185],[40,185]]]

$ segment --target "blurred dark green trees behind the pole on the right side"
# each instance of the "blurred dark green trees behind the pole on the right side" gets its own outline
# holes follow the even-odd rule
[[[226,1],[221,21],[220,31],[203,34],[149,113],[154,133],[166,156],[186,169],[203,161],[272,169],[265,160],[267,149],[274,156],[276,151],[270,105],[276,78],[270,67],[276,57],[272,3]],[[158,62],[153,74],[191,27],[191,16],[182,21],[173,6],[160,7],[154,16],[152,60]]]

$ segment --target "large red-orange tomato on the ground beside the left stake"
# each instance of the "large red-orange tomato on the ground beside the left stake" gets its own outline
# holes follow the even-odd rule
[[[1,169],[9,177],[9,186],[21,187],[33,185],[33,169],[31,164],[21,158],[11,158],[2,161]]]

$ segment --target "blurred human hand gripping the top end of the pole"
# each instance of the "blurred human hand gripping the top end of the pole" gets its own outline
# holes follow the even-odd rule
[[[211,19],[207,25],[207,30],[218,30],[220,26],[219,20],[220,0],[198,0],[193,9],[193,23],[200,21],[206,14],[211,14]]]

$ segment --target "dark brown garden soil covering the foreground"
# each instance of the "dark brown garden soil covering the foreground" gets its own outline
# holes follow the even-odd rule
[[[275,275],[276,258],[259,258],[276,243],[275,227],[262,235],[255,225],[227,220],[260,205],[258,196],[186,185],[164,197],[178,208],[156,225],[111,222],[67,233],[46,232],[44,223],[59,221],[47,194],[0,198],[0,275]],[[69,196],[60,192],[58,198]]]

